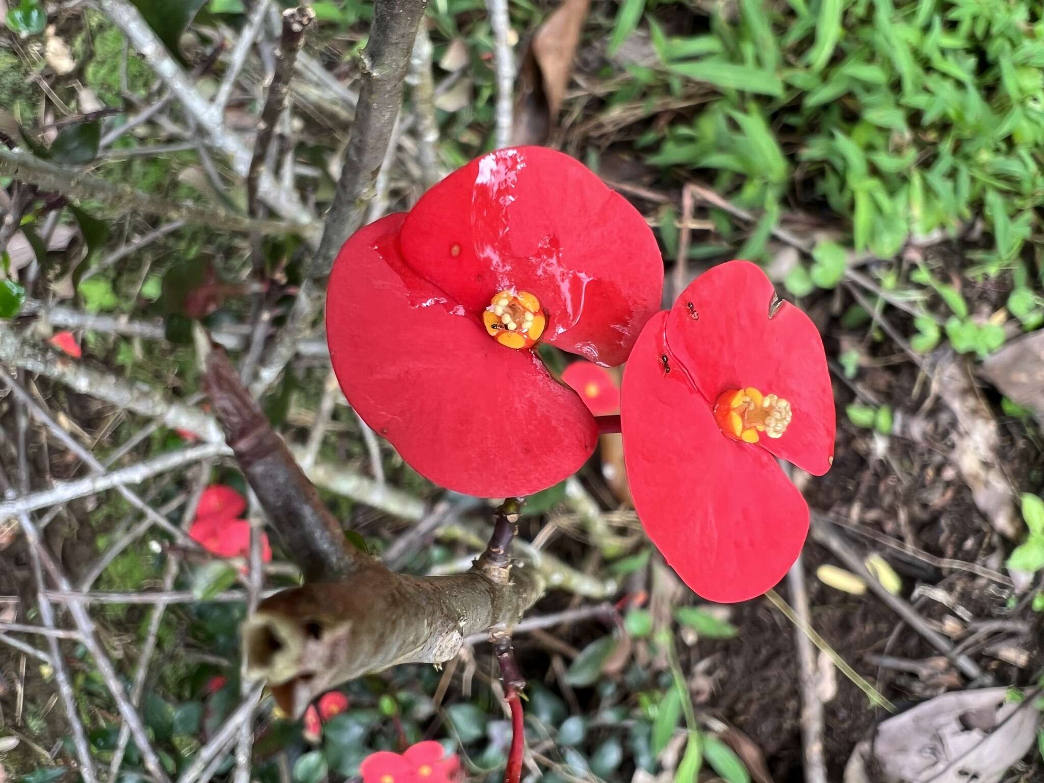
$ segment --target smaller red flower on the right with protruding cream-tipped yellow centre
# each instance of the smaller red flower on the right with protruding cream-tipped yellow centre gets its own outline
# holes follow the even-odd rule
[[[772,588],[808,532],[780,457],[822,475],[834,448],[823,341],[746,261],[701,275],[642,331],[623,375],[624,459],[649,538],[701,596]]]

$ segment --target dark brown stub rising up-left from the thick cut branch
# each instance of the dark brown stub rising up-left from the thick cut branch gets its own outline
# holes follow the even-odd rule
[[[346,545],[340,524],[219,349],[208,357],[204,387],[243,475],[305,577],[329,582],[372,566]]]

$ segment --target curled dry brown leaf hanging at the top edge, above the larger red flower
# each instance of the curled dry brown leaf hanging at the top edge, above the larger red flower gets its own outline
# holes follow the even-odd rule
[[[516,144],[541,144],[551,135],[590,5],[591,0],[563,0],[529,41],[519,69]]]

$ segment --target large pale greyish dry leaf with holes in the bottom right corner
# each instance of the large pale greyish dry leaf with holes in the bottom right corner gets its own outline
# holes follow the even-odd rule
[[[1037,738],[1040,713],[1015,704],[1006,688],[944,693],[888,718],[873,741],[856,748],[845,783],[998,783]]]

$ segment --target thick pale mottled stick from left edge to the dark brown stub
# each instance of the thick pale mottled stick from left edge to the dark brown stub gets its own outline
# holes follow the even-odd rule
[[[207,441],[223,440],[214,418],[198,408],[171,402],[159,389],[92,370],[86,363],[71,361],[55,351],[30,346],[4,324],[0,324],[0,361],[46,376],[80,394],[91,395],[140,416],[159,419],[168,427],[195,432]]]

